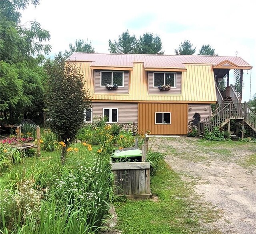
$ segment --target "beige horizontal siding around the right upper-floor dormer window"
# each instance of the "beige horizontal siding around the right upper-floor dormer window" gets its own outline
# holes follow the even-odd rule
[[[154,88],[153,76],[153,72],[148,72],[148,94],[181,94],[181,72],[176,73],[176,88],[171,87],[169,91],[160,91],[158,87]]]

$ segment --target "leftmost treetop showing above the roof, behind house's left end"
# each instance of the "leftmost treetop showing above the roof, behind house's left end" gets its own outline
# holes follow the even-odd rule
[[[70,57],[74,52],[83,52],[83,53],[95,53],[94,47],[92,47],[92,43],[88,43],[88,39],[86,42],[82,39],[76,40],[75,44],[69,44],[69,50],[65,50],[64,57]]]

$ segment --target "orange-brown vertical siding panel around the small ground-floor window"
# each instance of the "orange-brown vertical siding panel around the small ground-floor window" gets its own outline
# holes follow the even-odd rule
[[[171,112],[171,124],[155,124],[156,112]],[[138,133],[150,130],[152,135],[187,134],[188,104],[139,103]]]

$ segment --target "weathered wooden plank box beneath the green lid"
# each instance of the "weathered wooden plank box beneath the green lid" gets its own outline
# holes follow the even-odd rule
[[[110,166],[117,194],[126,195],[128,199],[151,197],[149,162],[116,163],[110,159]]]

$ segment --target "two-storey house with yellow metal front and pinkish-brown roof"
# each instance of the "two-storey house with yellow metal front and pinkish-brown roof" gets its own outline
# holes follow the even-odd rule
[[[212,118],[211,104],[221,110],[241,103],[243,70],[252,69],[240,57],[222,56],[73,53],[68,62],[80,67],[91,92],[87,122],[103,116],[154,135],[187,134],[189,123]],[[238,88],[229,84],[231,69],[238,71]],[[223,77],[226,93],[218,89]]]

